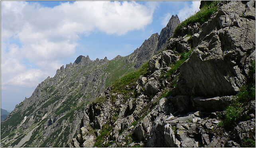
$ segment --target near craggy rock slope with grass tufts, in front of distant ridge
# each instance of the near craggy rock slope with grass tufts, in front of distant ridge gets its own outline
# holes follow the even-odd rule
[[[255,147],[255,1],[204,3],[189,19],[215,13],[87,105],[66,146]]]

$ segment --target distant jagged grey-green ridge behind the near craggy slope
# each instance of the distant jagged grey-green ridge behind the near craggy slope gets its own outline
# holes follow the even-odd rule
[[[131,55],[91,60],[79,56],[41,82],[1,123],[2,147],[64,147],[79,134],[84,110],[118,78],[137,70],[173,35],[180,21],[172,16],[160,35],[153,34]]]

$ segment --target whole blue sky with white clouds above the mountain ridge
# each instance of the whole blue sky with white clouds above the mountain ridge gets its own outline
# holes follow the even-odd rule
[[[126,56],[200,1],[1,1],[1,108],[11,111],[79,55]]]

